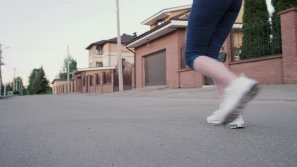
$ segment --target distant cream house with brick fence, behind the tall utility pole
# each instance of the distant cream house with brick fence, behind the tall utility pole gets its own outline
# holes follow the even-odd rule
[[[124,90],[132,89],[131,64],[134,63],[133,48],[127,48],[124,43],[134,39],[133,36],[121,36],[121,56],[123,62]],[[75,75],[75,92],[77,93],[112,93],[118,91],[118,50],[117,38],[91,43],[88,68],[79,68],[70,74]]]

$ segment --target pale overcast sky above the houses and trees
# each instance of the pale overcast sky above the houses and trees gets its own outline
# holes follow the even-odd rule
[[[266,0],[271,12],[271,0]],[[51,82],[69,53],[78,68],[88,67],[85,48],[96,41],[114,38],[115,0],[0,0],[0,44],[3,48],[4,84],[15,75],[25,86],[33,68],[45,70]],[[192,0],[119,0],[121,34],[140,35],[150,29],[140,23],[155,13],[192,4]]]

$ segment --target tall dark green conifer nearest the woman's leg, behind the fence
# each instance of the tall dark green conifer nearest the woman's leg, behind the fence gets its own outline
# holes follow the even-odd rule
[[[241,59],[269,54],[269,13],[265,0],[245,0]]]

